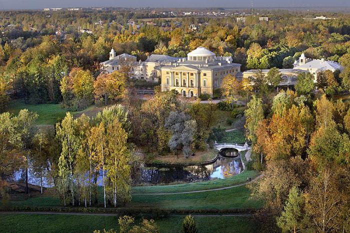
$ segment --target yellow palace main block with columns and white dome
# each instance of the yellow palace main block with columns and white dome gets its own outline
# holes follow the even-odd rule
[[[183,96],[213,96],[227,74],[240,72],[240,64],[230,56],[215,56],[204,47],[197,47],[170,65],[160,66],[161,90],[177,90]]]

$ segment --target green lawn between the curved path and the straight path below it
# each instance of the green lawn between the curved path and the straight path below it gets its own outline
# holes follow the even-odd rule
[[[100,188],[101,190],[101,188]],[[150,207],[164,209],[228,209],[228,208],[260,208],[262,202],[249,199],[250,190],[246,186],[238,186],[224,190],[165,195],[132,194],[131,202],[125,207]],[[102,194],[98,198],[103,202]],[[27,200],[13,200],[9,206],[30,207],[62,207],[58,197],[38,196]]]

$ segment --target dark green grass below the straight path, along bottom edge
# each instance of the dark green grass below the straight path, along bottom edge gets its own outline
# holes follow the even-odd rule
[[[117,216],[1,214],[1,232],[92,232],[113,228],[118,232]],[[180,232],[183,216],[155,219],[160,232]],[[194,217],[198,232],[254,232],[248,216]],[[136,218],[139,222],[140,218]],[[102,231],[103,232],[103,231]]]

